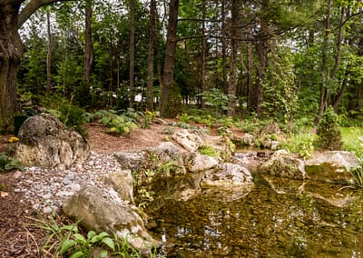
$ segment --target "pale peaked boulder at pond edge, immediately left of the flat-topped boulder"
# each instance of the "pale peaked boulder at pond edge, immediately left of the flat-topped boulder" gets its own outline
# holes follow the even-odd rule
[[[260,172],[290,179],[307,178],[304,162],[284,150],[277,151],[262,164]]]

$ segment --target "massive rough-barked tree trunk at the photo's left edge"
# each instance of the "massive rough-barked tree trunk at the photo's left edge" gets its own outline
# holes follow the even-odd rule
[[[18,34],[20,2],[0,1],[0,131],[12,129],[16,102],[16,74],[24,51]]]

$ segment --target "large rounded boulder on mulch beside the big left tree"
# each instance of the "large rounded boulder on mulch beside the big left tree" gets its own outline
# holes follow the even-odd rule
[[[25,166],[67,169],[73,164],[82,164],[90,154],[83,136],[51,114],[29,117],[18,135],[15,158]]]

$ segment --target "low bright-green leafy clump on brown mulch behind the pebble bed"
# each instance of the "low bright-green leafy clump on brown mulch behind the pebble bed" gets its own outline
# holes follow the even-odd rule
[[[130,134],[133,128],[137,128],[132,118],[123,114],[119,115],[114,110],[99,110],[94,113],[93,119],[98,119],[98,123],[106,125],[108,134]]]

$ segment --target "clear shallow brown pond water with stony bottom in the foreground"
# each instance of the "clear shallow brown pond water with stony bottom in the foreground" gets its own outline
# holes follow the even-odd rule
[[[222,191],[163,200],[148,213],[149,230],[167,257],[363,256],[360,190],[272,180],[254,174],[254,187],[240,199]]]

